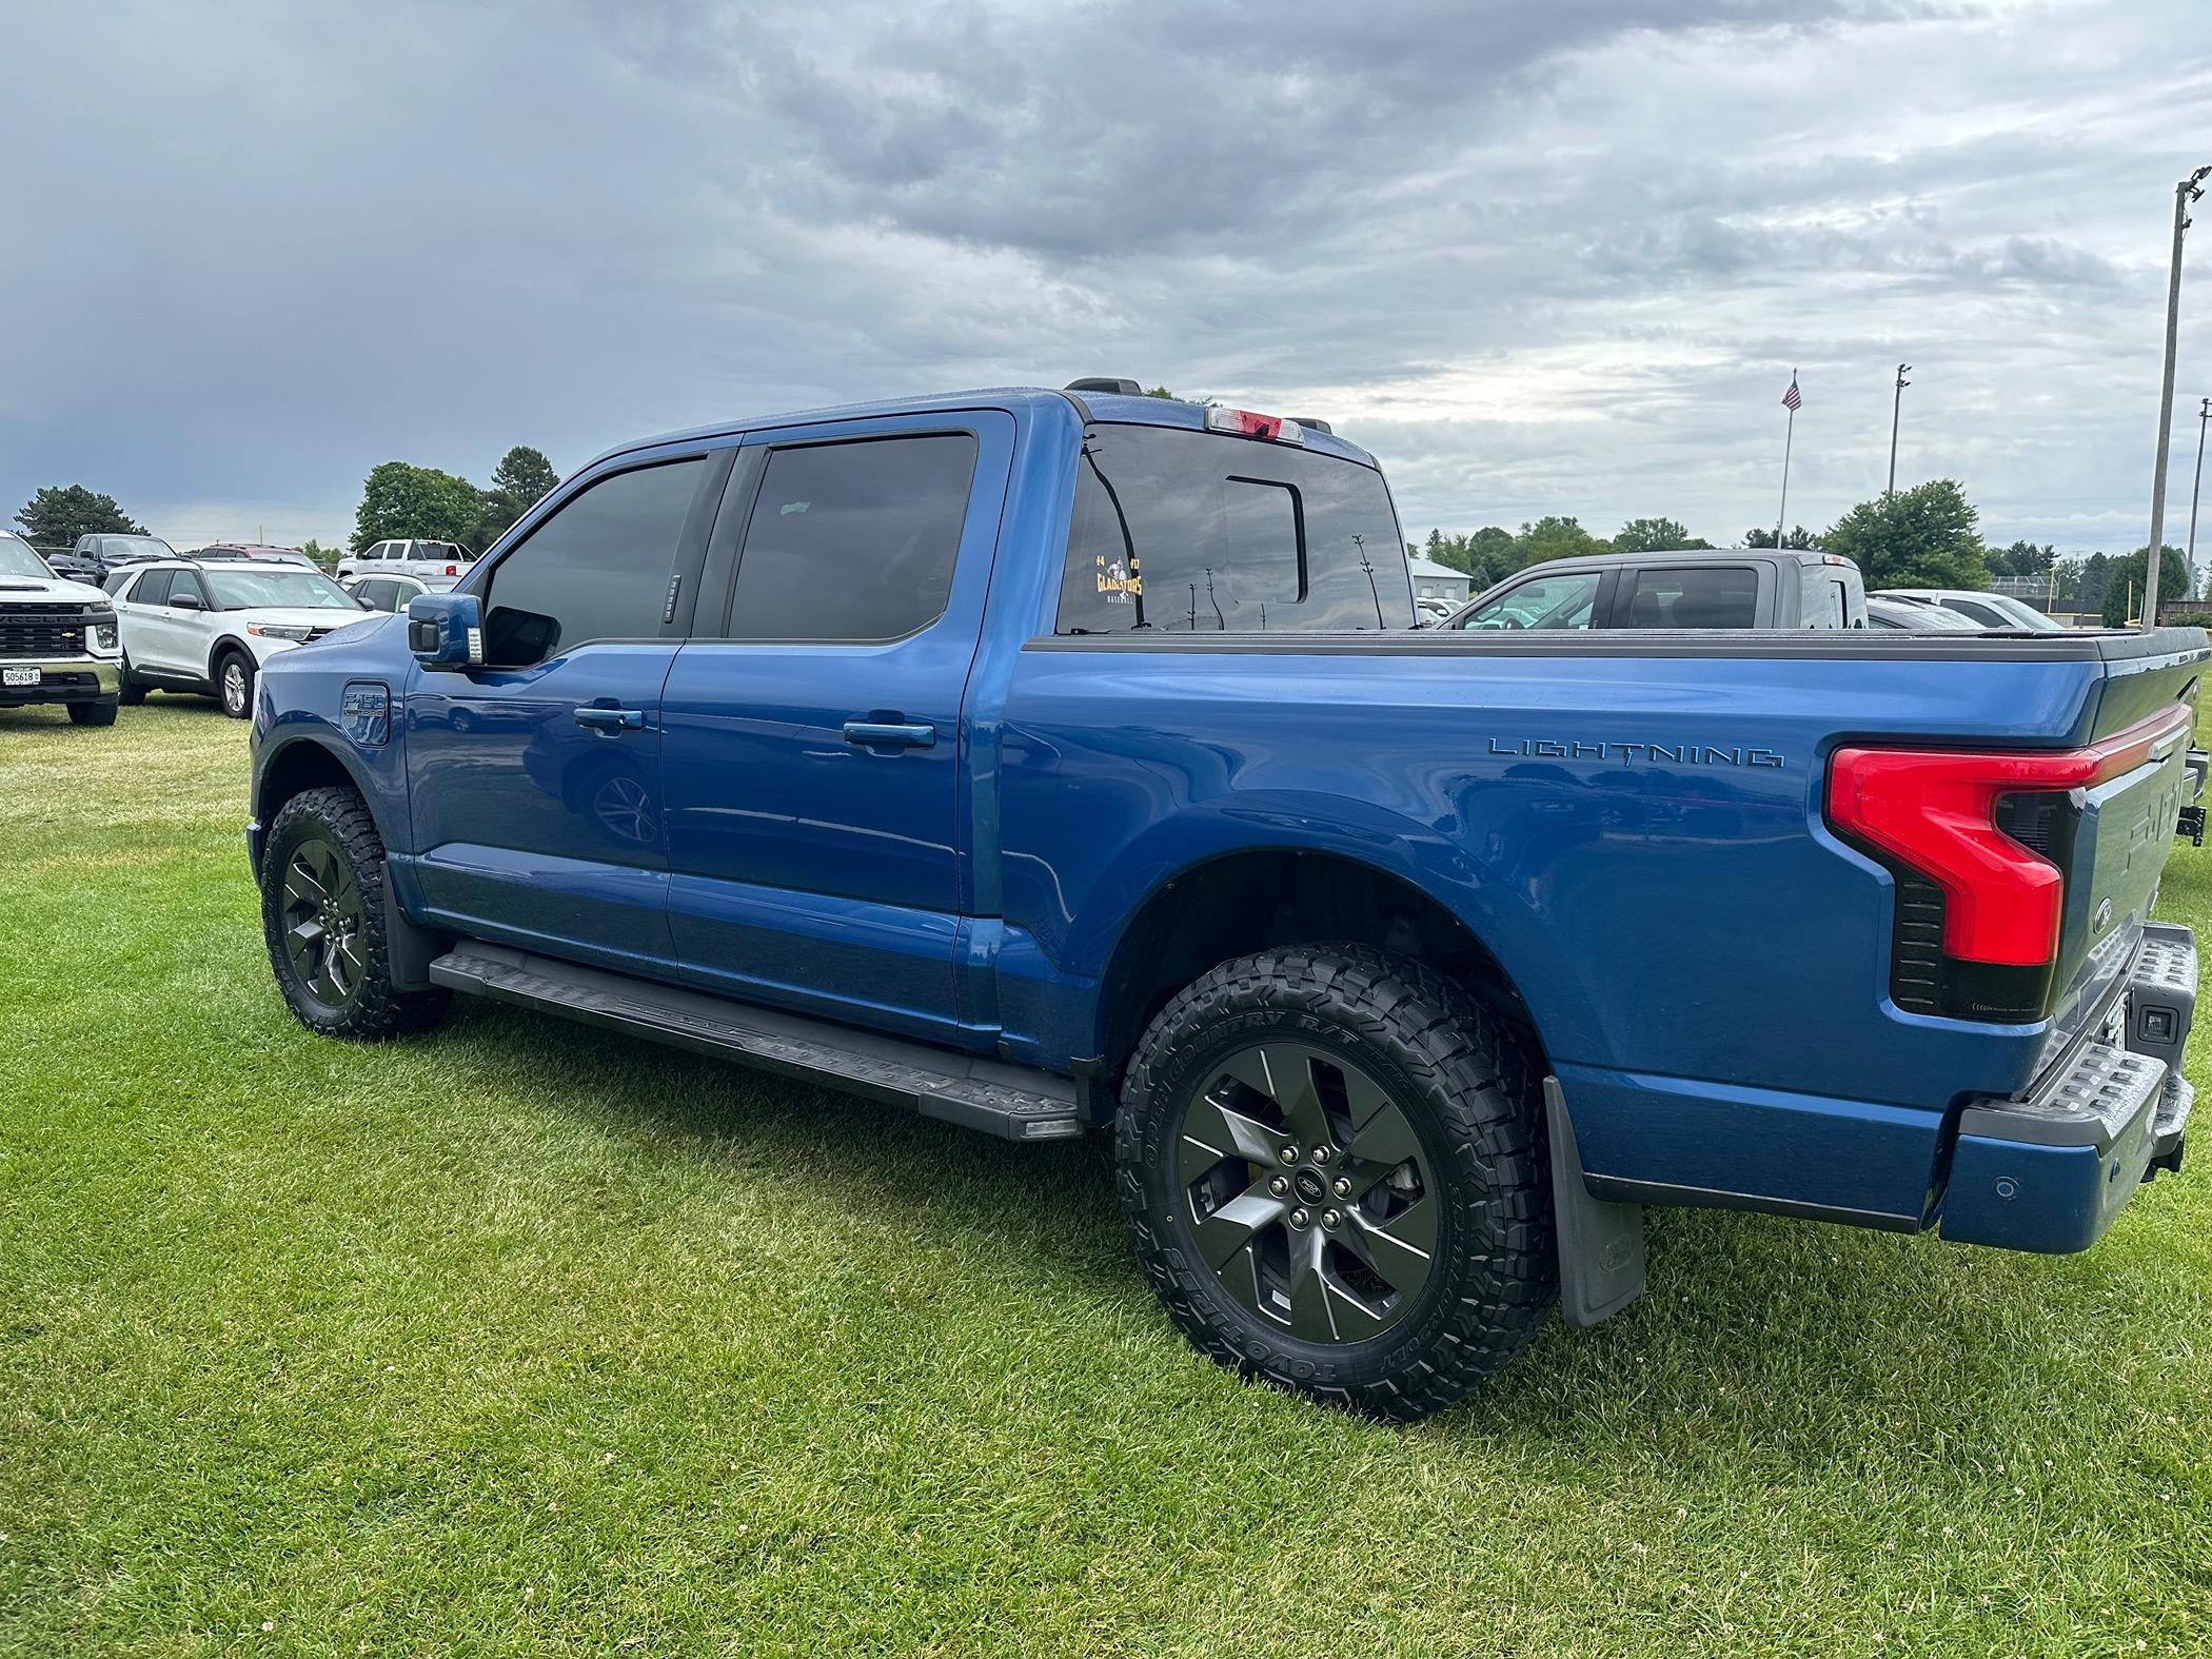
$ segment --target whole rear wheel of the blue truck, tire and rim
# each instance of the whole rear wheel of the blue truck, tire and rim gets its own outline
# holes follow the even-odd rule
[[[1121,1086],[1121,1212],[1168,1314],[1248,1376],[1413,1420],[1557,1296],[1535,1066],[1429,967],[1363,945],[1223,962]]]

